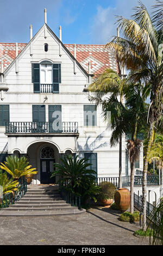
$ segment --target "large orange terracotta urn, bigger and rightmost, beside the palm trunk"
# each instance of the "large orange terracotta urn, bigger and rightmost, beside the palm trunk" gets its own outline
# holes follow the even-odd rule
[[[126,211],[130,206],[130,191],[127,188],[119,188],[115,192],[114,200],[118,210]]]

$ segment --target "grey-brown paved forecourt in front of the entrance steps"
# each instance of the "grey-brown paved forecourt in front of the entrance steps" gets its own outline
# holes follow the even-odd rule
[[[1,217],[0,245],[148,245],[133,235],[139,223],[118,221],[120,214],[93,208],[78,216]]]

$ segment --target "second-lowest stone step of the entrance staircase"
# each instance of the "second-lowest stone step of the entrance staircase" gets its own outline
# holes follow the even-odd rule
[[[4,208],[4,211],[65,211],[65,210],[73,210],[78,209],[78,206],[71,206],[71,205],[63,205],[63,206],[49,206],[48,208],[46,206],[21,206],[21,207],[13,207],[9,206],[9,208]],[[0,212],[1,214],[1,212]]]

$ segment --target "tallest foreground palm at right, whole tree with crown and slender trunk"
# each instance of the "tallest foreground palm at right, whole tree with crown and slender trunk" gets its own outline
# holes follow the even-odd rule
[[[114,36],[106,47],[111,48],[118,60],[128,70],[133,71],[134,82],[143,81],[145,89],[150,90],[151,104],[148,109],[148,147],[143,167],[143,230],[146,230],[146,197],[147,197],[147,168],[149,152],[152,147],[155,127],[162,122],[163,109],[163,2],[157,0],[153,8],[152,18],[145,5],[139,1],[135,14],[131,19],[117,16],[117,23],[122,37]]]

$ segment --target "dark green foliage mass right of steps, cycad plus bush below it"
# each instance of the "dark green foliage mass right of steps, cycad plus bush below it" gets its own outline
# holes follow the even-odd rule
[[[100,188],[96,185],[95,170],[88,169],[90,163],[86,159],[78,159],[72,155],[66,155],[61,159],[61,164],[55,163],[56,170],[52,177],[60,175],[58,183],[63,185],[67,183],[66,189],[78,196],[82,196],[82,204],[85,204],[87,198],[92,198],[96,202],[96,196]]]

